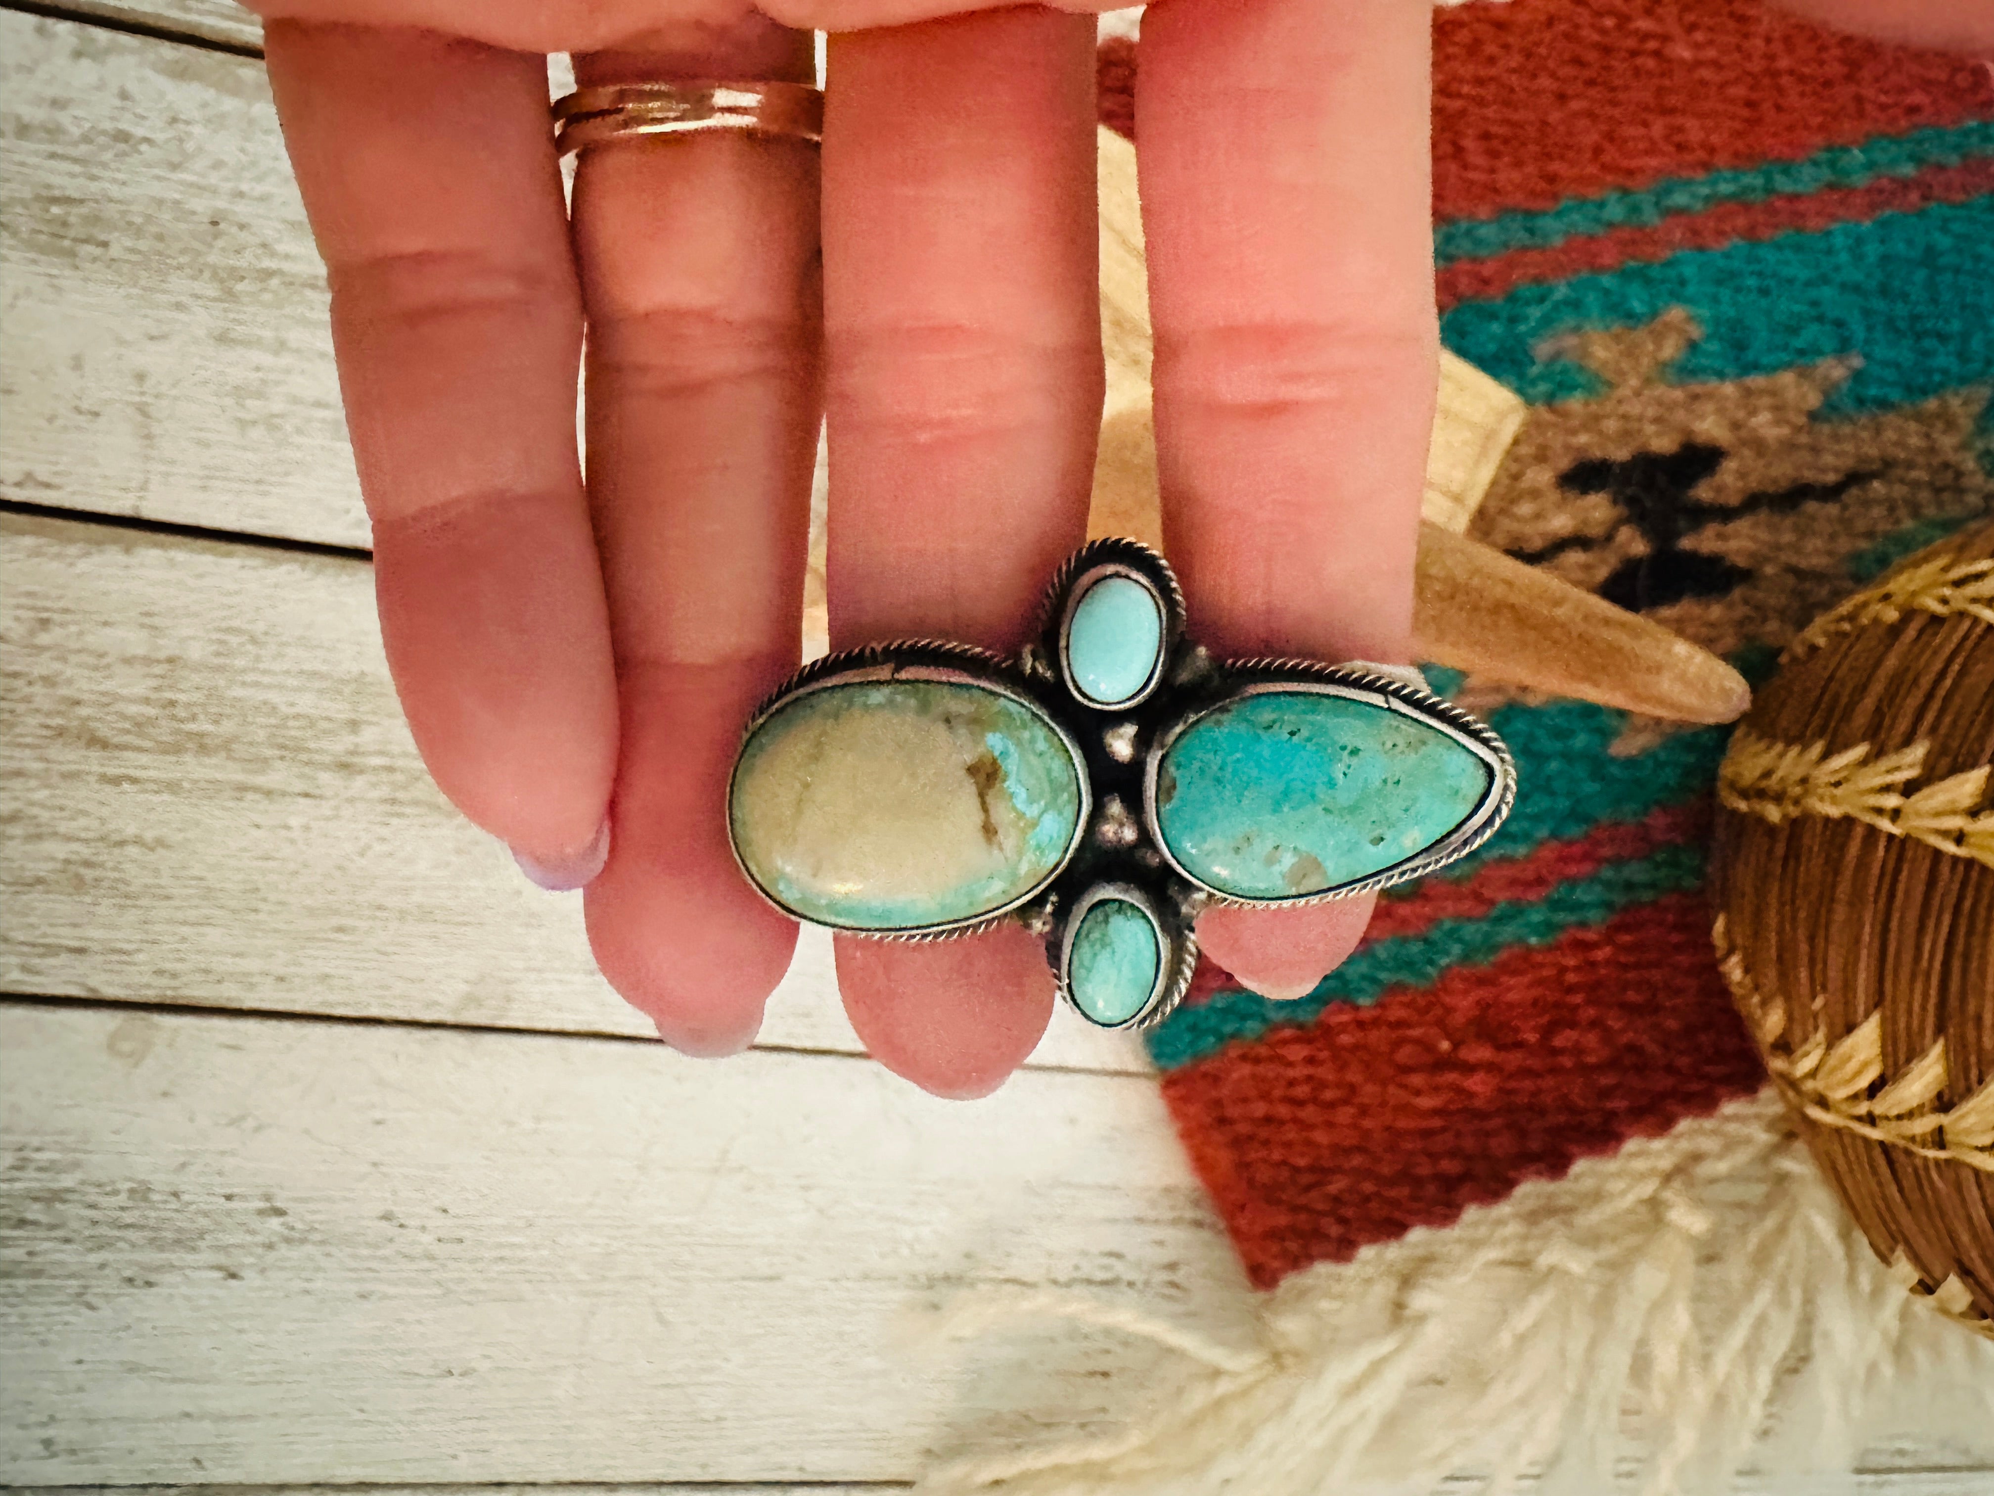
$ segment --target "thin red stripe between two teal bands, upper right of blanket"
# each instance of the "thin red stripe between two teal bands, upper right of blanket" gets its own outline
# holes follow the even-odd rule
[[[1860,223],[1880,213],[1968,201],[1986,191],[1994,191],[1994,162],[1976,160],[1926,168],[1908,178],[1882,178],[1860,187],[1811,191],[1805,197],[1721,203],[1653,227],[1613,229],[1545,249],[1517,249],[1494,259],[1448,265],[1438,277],[1440,305],[1446,309],[1462,301],[1492,301],[1517,285],[1653,263],[1683,249],[1723,249],[1749,239]]]

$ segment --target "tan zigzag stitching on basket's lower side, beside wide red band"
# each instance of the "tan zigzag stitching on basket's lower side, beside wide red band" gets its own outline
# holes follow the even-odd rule
[[[1745,957],[1731,947],[1725,916],[1717,916],[1711,941],[1731,995],[1753,1025],[1767,1071],[1795,1109],[1825,1127],[1888,1143],[1920,1159],[1952,1159],[1994,1173],[1994,1081],[1950,1111],[1928,1111],[1946,1089],[1944,1039],[1870,1095],[1884,1079],[1880,1007],[1832,1045],[1819,1027],[1805,1043],[1793,1045],[1785,1003],[1759,991]]]

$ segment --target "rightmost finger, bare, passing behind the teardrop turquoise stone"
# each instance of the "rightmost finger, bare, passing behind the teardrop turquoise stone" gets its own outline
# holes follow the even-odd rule
[[[1406,660],[1438,333],[1428,26],[1380,0],[1178,0],[1137,72],[1164,537],[1228,654]],[[1208,949],[1314,985],[1338,916],[1228,912]]]

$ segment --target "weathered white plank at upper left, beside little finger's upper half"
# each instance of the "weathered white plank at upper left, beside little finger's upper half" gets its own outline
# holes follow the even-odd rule
[[[367,545],[263,66],[0,12],[0,497]]]

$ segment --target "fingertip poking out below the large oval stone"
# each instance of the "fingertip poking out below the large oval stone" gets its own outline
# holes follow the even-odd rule
[[[1053,1017],[1045,951],[1019,926],[933,945],[839,935],[837,989],[871,1057],[945,1101],[1003,1085]]]

